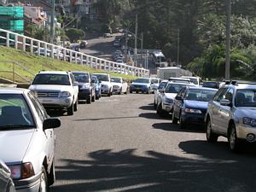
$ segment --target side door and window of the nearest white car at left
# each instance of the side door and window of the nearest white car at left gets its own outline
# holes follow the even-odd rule
[[[48,162],[51,164],[51,162],[54,159],[55,134],[53,129],[47,129],[45,131],[43,130],[44,119],[48,119],[49,115],[46,113],[44,107],[40,102],[38,102],[38,99],[35,96],[33,96],[31,93],[28,93],[28,96],[31,102],[33,103],[33,106],[36,109],[38,113],[38,117],[41,121],[40,122],[41,126],[38,127],[38,129],[39,131],[44,132],[44,137],[45,137],[45,145],[42,146],[42,148],[44,147],[45,153],[47,154]]]

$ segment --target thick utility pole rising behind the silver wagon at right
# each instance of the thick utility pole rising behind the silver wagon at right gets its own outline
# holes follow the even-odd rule
[[[226,0],[226,61],[225,61],[225,79],[230,80],[230,31],[231,31],[231,0]]]

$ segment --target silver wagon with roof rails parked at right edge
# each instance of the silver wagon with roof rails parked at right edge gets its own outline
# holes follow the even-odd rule
[[[239,151],[241,143],[256,142],[256,84],[230,82],[208,103],[207,141],[216,143],[227,137],[231,151]]]

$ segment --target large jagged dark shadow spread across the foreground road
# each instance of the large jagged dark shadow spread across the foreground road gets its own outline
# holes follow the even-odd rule
[[[189,154],[211,157],[194,160],[147,151],[137,156],[136,149],[114,152],[111,149],[87,154],[90,160],[61,160],[56,179],[63,184],[54,192],[84,191],[174,191],[219,192],[253,191],[256,187],[254,156],[224,151],[224,143],[212,146],[202,141],[181,143]]]

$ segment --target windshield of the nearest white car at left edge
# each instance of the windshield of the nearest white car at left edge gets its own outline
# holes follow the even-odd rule
[[[0,94],[0,131],[35,127],[32,113],[21,94]]]

